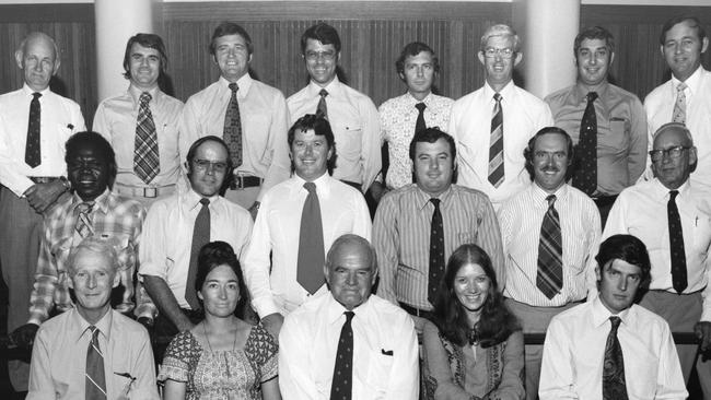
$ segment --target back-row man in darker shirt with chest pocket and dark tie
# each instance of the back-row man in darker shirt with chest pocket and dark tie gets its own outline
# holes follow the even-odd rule
[[[575,36],[578,82],[546,97],[556,126],[575,143],[572,185],[590,196],[603,226],[617,195],[646,167],[646,115],[642,102],[607,82],[615,39],[601,26]]]

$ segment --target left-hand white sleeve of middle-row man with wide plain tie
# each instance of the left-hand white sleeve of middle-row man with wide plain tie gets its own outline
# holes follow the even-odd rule
[[[252,305],[259,318],[279,313],[269,282],[271,234],[268,219],[270,208],[270,197],[267,196],[257,213],[257,220],[252,230],[252,240],[243,262],[244,280],[252,295]]]

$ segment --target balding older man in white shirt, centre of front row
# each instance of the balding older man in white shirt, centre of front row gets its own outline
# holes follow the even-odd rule
[[[416,400],[412,320],[371,294],[375,249],[363,237],[343,235],[328,250],[323,273],[330,291],[287,316],[279,336],[284,399]]]

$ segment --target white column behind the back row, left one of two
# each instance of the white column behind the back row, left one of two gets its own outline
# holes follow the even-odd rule
[[[153,33],[152,0],[95,0],[98,101],[125,91],[126,42],[137,33]]]

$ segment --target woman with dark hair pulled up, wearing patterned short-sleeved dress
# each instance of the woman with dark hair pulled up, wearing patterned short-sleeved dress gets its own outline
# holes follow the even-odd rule
[[[159,373],[163,399],[281,399],[277,342],[235,315],[249,298],[229,244],[200,249],[195,289],[205,319],[171,341]]]

